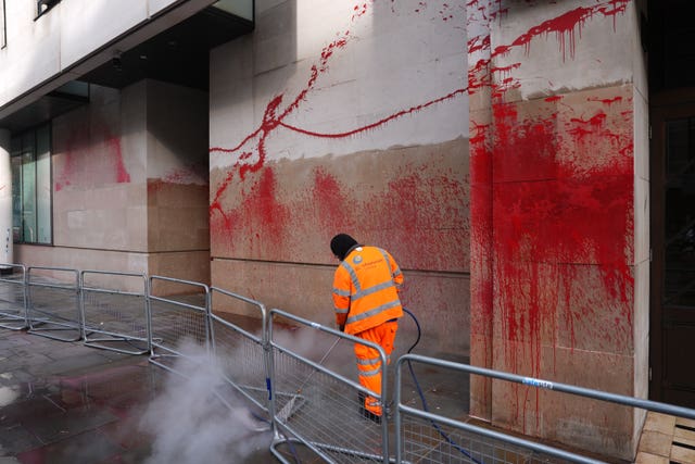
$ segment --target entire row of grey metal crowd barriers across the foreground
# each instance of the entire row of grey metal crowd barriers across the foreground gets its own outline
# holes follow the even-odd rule
[[[10,266],[11,274],[0,274],[0,327],[28,328],[30,334],[83,340],[88,347],[125,354],[149,353],[150,362],[177,374],[182,374],[177,361],[199,363],[200,352],[212,354],[205,360],[214,360],[224,378],[217,396],[227,405],[238,404],[241,397],[266,416],[275,434],[270,451],[283,463],[289,461],[280,449],[294,444],[331,463],[601,462],[462,419],[467,411],[452,417],[432,413],[425,404],[406,403],[403,368],[418,363],[695,419],[695,410],[405,354],[395,366],[395,446],[390,451],[391,419],[376,424],[361,413],[365,394],[382,404],[389,399],[386,375],[381,396],[356,381],[354,343],[375,349],[386,369],[383,350],[374,343],[277,309],[266,311],[256,300],[195,281],[5,265]],[[341,350],[333,350],[340,341]],[[194,373],[187,369],[182,375]],[[415,377],[414,381],[417,385]]]

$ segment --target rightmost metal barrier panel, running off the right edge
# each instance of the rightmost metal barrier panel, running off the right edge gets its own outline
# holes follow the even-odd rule
[[[541,463],[549,459],[563,462],[602,463],[584,455],[558,448],[514,437],[485,427],[456,421],[440,414],[432,414],[426,407],[417,409],[402,401],[403,368],[407,364],[421,363],[452,372],[465,372],[522,384],[530,387],[551,389],[574,396],[607,401],[643,410],[661,412],[681,417],[695,418],[695,410],[673,406],[632,397],[607,393],[599,390],[556,384],[530,377],[507,374],[500,371],[475,367],[467,364],[447,362],[434,358],[405,354],[396,363],[395,373],[395,460],[396,463]]]

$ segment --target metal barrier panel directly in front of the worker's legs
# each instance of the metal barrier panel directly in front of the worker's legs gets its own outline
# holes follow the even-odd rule
[[[278,330],[274,329],[279,324],[276,318],[299,327],[294,331],[294,342],[280,340]],[[333,341],[333,346],[324,343],[326,347],[318,349],[317,333],[325,334],[326,340],[336,340],[336,337],[338,340]],[[288,463],[278,447],[300,442],[331,463],[388,462],[388,421],[378,425],[359,412],[361,393],[369,393],[382,404],[386,403],[386,375],[382,376],[381,396],[378,396],[324,365],[332,347],[343,340],[345,348],[361,343],[378,351],[383,371],[387,360],[381,347],[280,310],[270,311],[268,337],[273,398],[270,411],[277,430],[293,437],[282,438],[276,434],[277,438],[270,448],[275,456]],[[298,353],[298,349],[291,344],[303,346],[305,351],[319,351],[324,358],[318,362],[312,361],[308,354]],[[354,358],[352,364],[354,366]]]

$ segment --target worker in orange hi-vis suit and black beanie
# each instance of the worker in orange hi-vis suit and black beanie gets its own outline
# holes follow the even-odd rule
[[[403,316],[399,299],[403,274],[399,265],[388,251],[362,246],[348,234],[333,237],[330,249],[341,261],[333,276],[332,290],[338,328],[380,346],[389,362],[397,321]],[[381,366],[379,352],[355,343],[355,358],[359,384],[380,396],[384,366]],[[361,394],[359,399],[364,416],[381,423],[383,409],[379,400],[369,394]]]

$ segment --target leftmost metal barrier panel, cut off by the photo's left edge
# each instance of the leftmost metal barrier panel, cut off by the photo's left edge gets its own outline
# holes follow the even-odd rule
[[[0,327],[21,330],[26,317],[26,267],[0,264]]]

